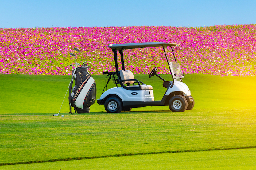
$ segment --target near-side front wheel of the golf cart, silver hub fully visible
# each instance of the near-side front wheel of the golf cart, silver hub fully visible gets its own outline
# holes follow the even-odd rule
[[[187,107],[188,102],[182,95],[175,95],[169,100],[169,108],[172,112],[184,112]]]

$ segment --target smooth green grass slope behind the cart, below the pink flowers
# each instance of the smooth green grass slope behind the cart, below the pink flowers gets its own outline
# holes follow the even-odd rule
[[[170,80],[170,75],[161,75]],[[58,113],[64,99],[71,76],[52,75],[16,75],[0,74],[0,113]],[[105,75],[93,75],[97,86],[97,99],[105,86]],[[162,81],[153,76],[135,75],[136,79],[153,86],[155,100],[161,100],[166,88]],[[195,108],[253,107],[256,94],[255,77],[219,77],[206,74],[185,75],[195,98]],[[108,87],[114,87],[109,83]],[[246,104],[241,100],[246,99]],[[104,106],[97,103],[91,106],[91,112],[102,112]],[[134,108],[133,111],[169,110],[168,106]],[[68,94],[61,113],[68,113]]]

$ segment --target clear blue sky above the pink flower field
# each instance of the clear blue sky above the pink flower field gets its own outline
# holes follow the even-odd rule
[[[0,28],[256,23],[255,0],[0,0]]]

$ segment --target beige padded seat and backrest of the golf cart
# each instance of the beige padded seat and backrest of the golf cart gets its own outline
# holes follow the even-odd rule
[[[130,71],[130,70],[120,70],[119,71],[119,74],[120,74],[120,77],[121,77],[121,80],[131,80],[131,81],[124,81],[123,84],[127,84],[129,83],[129,86],[127,87],[131,87],[131,90],[132,88],[138,88],[139,85],[132,85],[135,83],[134,81],[134,75],[133,73]],[[142,83],[142,82],[139,82],[139,83]],[[141,86],[141,90],[152,90],[153,87],[151,85],[146,85],[146,84],[140,84]]]

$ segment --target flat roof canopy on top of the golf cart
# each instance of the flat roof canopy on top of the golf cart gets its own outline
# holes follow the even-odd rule
[[[160,47],[160,46],[180,46],[180,44],[152,42],[152,43],[109,44],[108,47],[116,50],[124,50],[124,49],[133,49],[133,48]]]

